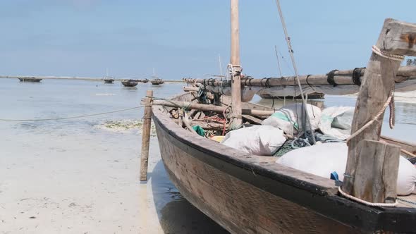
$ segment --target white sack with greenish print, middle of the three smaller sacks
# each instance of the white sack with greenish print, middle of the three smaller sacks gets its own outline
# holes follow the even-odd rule
[[[307,104],[307,114],[310,118],[312,130],[317,130],[321,120],[321,109],[317,106]],[[277,110],[269,118],[266,118],[262,125],[270,125],[280,128],[287,135],[293,136],[302,131],[302,104],[290,104]]]

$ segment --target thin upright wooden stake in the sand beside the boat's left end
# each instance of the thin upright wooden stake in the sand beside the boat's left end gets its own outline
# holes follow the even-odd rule
[[[142,156],[140,156],[140,181],[147,180],[147,164],[149,162],[150,127],[152,125],[153,90],[147,90],[145,101],[145,116],[143,116]]]

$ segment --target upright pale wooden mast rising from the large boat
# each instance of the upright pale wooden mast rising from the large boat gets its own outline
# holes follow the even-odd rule
[[[241,120],[241,67],[238,28],[238,0],[231,0],[231,129],[238,128]]]

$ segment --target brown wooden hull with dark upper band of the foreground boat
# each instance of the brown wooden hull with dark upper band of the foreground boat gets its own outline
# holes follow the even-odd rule
[[[415,209],[352,202],[338,196],[334,180],[195,137],[173,123],[160,106],[153,112],[169,178],[190,203],[231,233],[416,230]]]

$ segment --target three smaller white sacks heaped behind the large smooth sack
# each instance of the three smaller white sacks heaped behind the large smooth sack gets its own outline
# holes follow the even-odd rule
[[[350,136],[353,121],[353,107],[329,107],[321,111],[317,106],[307,104],[307,114],[312,130],[345,140]],[[233,130],[224,137],[221,144],[239,149],[248,154],[271,156],[286,142],[302,132],[306,118],[302,116],[302,105],[290,104],[266,118],[262,125]]]

